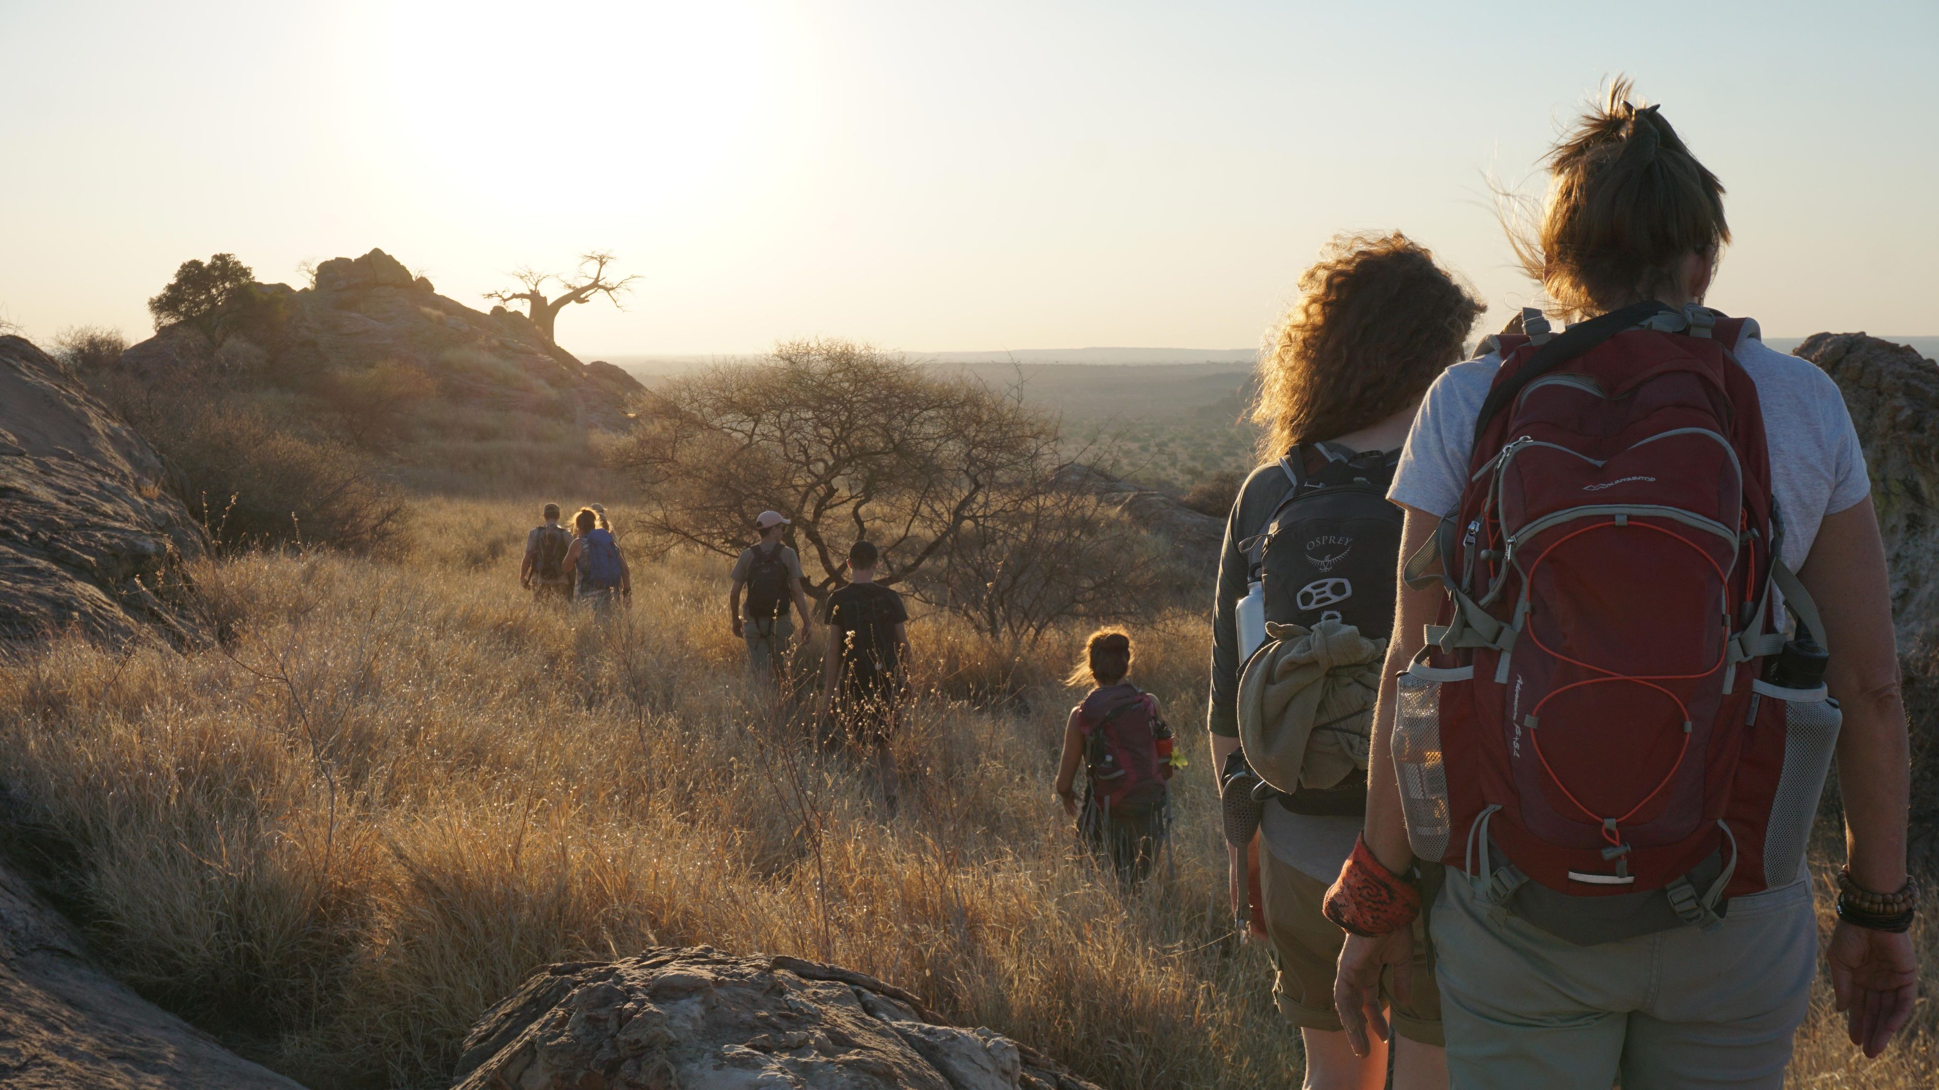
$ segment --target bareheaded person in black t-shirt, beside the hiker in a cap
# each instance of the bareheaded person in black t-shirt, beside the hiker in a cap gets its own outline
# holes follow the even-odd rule
[[[874,751],[882,799],[896,809],[894,739],[907,698],[909,611],[874,582],[880,553],[849,547],[849,584],[828,595],[828,654],[822,659],[822,731],[828,741]]]

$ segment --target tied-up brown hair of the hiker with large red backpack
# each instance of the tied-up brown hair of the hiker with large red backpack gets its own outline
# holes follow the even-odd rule
[[[1631,105],[1617,76],[1549,149],[1549,196],[1499,194],[1503,225],[1551,310],[1582,318],[1638,299],[1687,289],[1675,283],[1687,254],[1712,268],[1730,225],[1724,182],[1691,155],[1658,107]]]

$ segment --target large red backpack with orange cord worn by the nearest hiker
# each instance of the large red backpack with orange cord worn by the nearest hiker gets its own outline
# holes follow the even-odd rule
[[[1439,557],[1448,593],[1400,679],[1410,838],[1574,943],[1714,927],[1799,873],[1838,729],[1733,355],[1757,330],[1660,303],[1524,328],[1406,572]]]

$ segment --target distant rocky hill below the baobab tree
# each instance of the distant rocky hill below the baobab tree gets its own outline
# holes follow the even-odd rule
[[[473,310],[432,291],[397,258],[370,250],[316,266],[316,287],[252,285],[215,324],[221,345],[180,322],[134,345],[138,372],[215,359],[273,384],[409,367],[444,401],[620,431],[626,400],[644,388],[609,363],[580,363],[524,314]]]

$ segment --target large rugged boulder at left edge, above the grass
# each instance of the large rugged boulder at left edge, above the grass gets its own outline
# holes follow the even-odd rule
[[[206,549],[142,436],[21,337],[0,337],[0,640],[202,638],[184,562]]]

